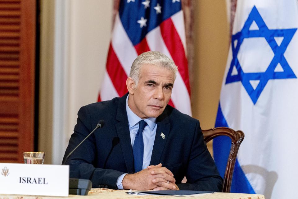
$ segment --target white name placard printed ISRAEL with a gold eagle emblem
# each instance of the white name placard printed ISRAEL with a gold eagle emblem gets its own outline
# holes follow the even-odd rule
[[[0,163],[0,193],[68,196],[69,165]]]

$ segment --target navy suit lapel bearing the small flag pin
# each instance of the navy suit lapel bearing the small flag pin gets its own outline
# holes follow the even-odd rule
[[[170,123],[169,118],[164,111],[158,118],[157,118],[157,128],[155,134],[155,140],[150,160],[150,165],[157,165],[160,163],[160,157],[163,153],[165,148],[165,143],[169,137],[170,132]]]

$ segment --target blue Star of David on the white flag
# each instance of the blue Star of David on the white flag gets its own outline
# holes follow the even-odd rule
[[[255,21],[255,23],[259,27],[259,30],[249,30],[253,21]],[[225,84],[241,81],[243,87],[246,89],[251,100],[253,101],[254,104],[256,104],[264,87],[266,86],[267,82],[270,79],[297,78],[294,72],[292,71],[291,67],[289,66],[286,58],[283,55],[291,39],[293,38],[293,35],[295,34],[296,30],[297,28],[270,30],[265,24],[264,20],[262,19],[257,8],[254,6],[246,22],[244,23],[242,30],[232,36],[231,46],[232,46],[232,52],[233,52],[233,59],[230,64],[230,68],[228,71]],[[244,73],[237,59],[237,54],[239,52],[239,49],[243,40],[245,38],[253,38],[253,37],[264,37],[267,43],[269,44],[270,48],[272,49],[274,53],[274,57],[265,72]],[[275,41],[274,37],[283,37],[283,40],[279,46]],[[234,46],[235,40],[237,40],[236,46]],[[283,69],[282,72],[274,71],[278,63],[280,63]],[[237,74],[232,75],[234,66],[237,69]],[[251,80],[260,81],[258,86],[255,89],[251,86],[251,83],[250,83]]]

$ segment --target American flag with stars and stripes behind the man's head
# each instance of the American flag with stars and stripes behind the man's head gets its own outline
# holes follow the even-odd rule
[[[125,82],[133,60],[147,51],[159,51],[174,60],[178,72],[169,105],[192,115],[180,0],[120,1],[98,101],[128,92]]]

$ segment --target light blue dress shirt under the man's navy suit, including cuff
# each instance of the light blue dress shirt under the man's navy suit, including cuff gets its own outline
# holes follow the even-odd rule
[[[128,117],[128,124],[129,124],[129,132],[130,132],[130,141],[131,146],[133,146],[134,139],[139,129],[139,121],[142,119],[139,118],[128,106],[128,98],[126,98],[126,113]],[[147,118],[144,121],[148,124],[145,126],[143,131],[143,141],[144,141],[144,157],[143,157],[143,169],[147,168],[150,164],[155,134],[156,134],[156,118]],[[122,174],[119,176],[117,180],[117,187],[118,189],[123,189],[122,180],[126,174]]]

